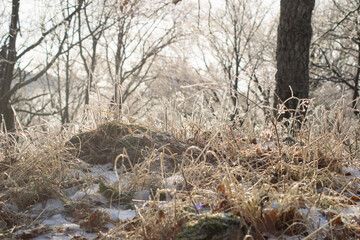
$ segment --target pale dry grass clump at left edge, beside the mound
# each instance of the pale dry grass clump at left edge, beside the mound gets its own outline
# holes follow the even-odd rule
[[[79,161],[72,157],[61,136],[38,131],[2,134],[13,136],[2,144],[0,201],[22,210],[48,198],[59,198],[62,190],[76,183],[71,169]]]

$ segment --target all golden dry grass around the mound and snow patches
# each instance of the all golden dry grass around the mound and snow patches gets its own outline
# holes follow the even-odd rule
[[[341,216],[341,209],[359,205],[359,176],[348,169],[359,169],[360,129],[358,120],[343,109],[310,111],[301,131],[292,136],[295,142],[283,141],[289,131],[281,123],[258,130],[248,122],[237,130],[219,123],[209,130],[190,122],[169,130],[176,132],[177,140],[166,147],[137,145],[137,150],[146,148],[147,153],[127,166],[125,182],[112,187],[127,193],[151,189],[153,200],[133,205],[136,218],[118,223],[99,238],[183,239],[184,229],[199,222],[206,226],[214,216],[234,216],[238,225],[219,230],[217,238],[199,239],[358,237],[360,221]],[[106,135],[104,126],[98,129]],[[67,142],[70,136],[24,131],[17,132],[17,137],[14,141],[3,133],[1,138],[3,206],[16,203],[26,209],[49,197],[65,198],[64,189],[85,184],[86,179],[75,174],[83,160],[70,149],[74,147]],[[180,143],[187,147],[179,150]],[[122,148],[125,151],[113,161],[132,156],[126,146]],[[168,168],[166,161],[175,164]],[[166,179],[175,175],[181,183],[174,182],[176,187],[167,189]],[[171,201],[164,201],[169,198]],[[327,219],[325,225],[317,222],[320,215]],[[2,210],[0,219],[6,229],[24,220],[31,222],[16,216]]]

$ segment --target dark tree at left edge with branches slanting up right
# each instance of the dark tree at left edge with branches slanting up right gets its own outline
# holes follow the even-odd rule
[[[6,34],[7,36],[3,36],[2,39],[5,39],[2,43],[0,50],[0,123],[3,124],[3,120],[5,121],[6,128],[8,130],[13,130],[15,127],[15,119],[14,113],[12,111],[12,97],[14,94],[21,88],[37,81],[40,77],[42,77],[54,64],[54,62],[59,58],[59,56],[69,51],[63,49],[65,40],[68,37],[67,31],[64,32],[63,38],[58,46],[57,52],[50,59],[49,62],[45,64],[45,66],[40,69],[35,76],[28,79],[21,79],[16,81],[16,74],[14,72],[16,63],[22,59],[22,57],[26,54],[30,54],[31,51],[38,47],[44,39],[51,33],[53,33],[60,26],[67,24],[72,21],[73,16],[81,11],[84,0],[79,0],[75,10],[70,13],[66,18],[64,18],[59,23],[53,25],[47,31],[42,32],[42,35],[38,37],[38,39],[29,44],[28,46],[23,46],[22,51],[17,53],[16,41],[18,37],[19,29],[19,7],[20,0],[12,0],[12,11],[11,11],[11,21],[9,32]],[[1,37],[0,37],[1,38]],[[72,45],[73,47],[75,45]]]

